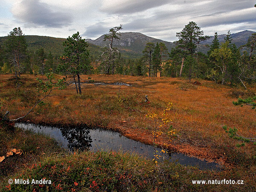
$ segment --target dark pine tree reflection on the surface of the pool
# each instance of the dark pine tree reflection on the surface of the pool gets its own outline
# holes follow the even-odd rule
[[[89,135],[90,130],[87,127],[62,127],[60,128],[63,137],[68,140],[68,148],[71,151],[75,149],[89,150],[92,146],[92,139]]]

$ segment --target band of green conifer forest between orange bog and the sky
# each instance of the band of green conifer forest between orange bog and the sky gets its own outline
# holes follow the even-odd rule
[[[163,42],[148,42],[143,51],[136,54],[115,47],[121,37],[122,25],[111,28],[104,36],[106,46],[87,43],[79,32],[67,39],[25,36],[20,27],[13,29],[7,37],[0,38],[0,73],[45,74],[51,70],[61,75],[122,74],[150,77],[186,77],[212,80],[218,84],[246,84],[256,80],[256,33],[246,44],[236,47],[230,31],[220,42],[215,32],[210,45],[209,36],[195,22],[189,22],[178,41],[170,49]],[[68,44],[73,44],[70,47]],[[78,47],[76,47],[76,45]],[[80,47],[79,47],[80,46]],[[201,52],[204,47],[206,54]],[[81,49],[78,53],[73,49]],[[79,55],[80,61],[67,58]],[[76,57],[77,57],[76,55]],[[65,57],[65,58],[64,58]],[[71,69],[72,68],[72,69]],[[78,71],[77,71],[78,70]]]

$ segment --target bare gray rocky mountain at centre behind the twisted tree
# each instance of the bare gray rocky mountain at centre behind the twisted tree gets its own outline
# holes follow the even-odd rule
[[[104,36],[102,35],[96,40],[86,39],[88,43],[98,45],[100,47],[105,47],[109,45],[109,41],[103,41]],[[168,41],[163,41],[160,39],[148,37],[142,33],[138,32],[124,32],[120,33],[120,39],[113,40],[113,47],[117,47],[121,53],[125,53],[125,55],[130,55],[131,57],[140,57],[143,55],[143,50],[148,42],[152,42],[156,44],[157,42],[164,43],[169,51],[171,51],[172,47],[175,47],[175,44]]]

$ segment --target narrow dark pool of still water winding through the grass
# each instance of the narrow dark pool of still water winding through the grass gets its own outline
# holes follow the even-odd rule
[[[128,139],[121,134],[104,129],[90,129],[87,127],[50,127],[35,124],[16,123],[19,128],[29,129],[35,133],[47,134],[62,144],[64,148],[73,150],[74,148],[98,150],[122,150],[132,151],[144,157],[154,158],[154,147],[145,145],[141,142]],[[157,151],[161,151],[157,148]],[[171,162],[180,163],[184,166],[197,166],[199,169],[221,170],[217,163],[208,163],[194,157],[188,157],[181,153],[168,153],[160,155],[164,156]]]

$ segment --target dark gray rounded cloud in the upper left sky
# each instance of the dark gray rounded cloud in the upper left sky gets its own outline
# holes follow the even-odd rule
[[[40,0],[23,0],[17,3],[12,14],[25,23],[44,27],[62,27],[67,26],[72,21],[70,14],[52,11],[52,7],[47,3],[41,3]]]

